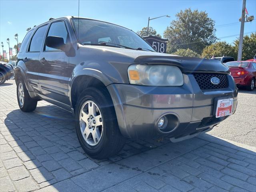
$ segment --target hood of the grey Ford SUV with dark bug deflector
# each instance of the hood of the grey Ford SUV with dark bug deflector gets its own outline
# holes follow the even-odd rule
[[[90,48],[99,49],[105,53],[108,52],[112,56],[115,54],[130,58],[129,60],[135,64],[174,65],[179,67],[183,73],[229,73],[228,67],[214,59],[182,57],[172,54],[106,46],[90,46]]]

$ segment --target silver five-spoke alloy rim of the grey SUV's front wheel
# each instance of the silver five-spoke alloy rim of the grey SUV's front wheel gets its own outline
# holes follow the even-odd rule
[[[102,113],[93,101],[86,101],[80,110],[80,129],[90,146],[100,142],[103,132]]]

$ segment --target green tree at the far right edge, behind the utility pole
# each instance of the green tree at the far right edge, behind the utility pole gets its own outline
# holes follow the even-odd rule
[[[236,58],[238,54],[238,45],[239,45],[239,39],[237,38],[234,41],[234,53],[236,55]],[[250,36],[248,35],[244,36],[242,60],[245,61],[248,59],[252,59],[255,54],[256,54],[256,32],[251,33]]]

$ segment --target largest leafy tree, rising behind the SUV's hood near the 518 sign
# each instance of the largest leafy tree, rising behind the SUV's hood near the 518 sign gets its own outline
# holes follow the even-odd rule
[[[208,17],[205,11],[192,11],[190,8],[176,14],[176,20],[164,31],[167,43],[167,52],[172,53],[178,49],[191,49],[202,53],[202,50],[216,42],[215,21]]]

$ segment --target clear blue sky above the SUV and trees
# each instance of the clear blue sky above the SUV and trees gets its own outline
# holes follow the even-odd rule
[[[80,0],[80,16],[119,24],[137,32],[147,26],[151,18],[168,14],[150,21],[159,34],[175,19],[175,14],[185,8],[206,11],[216,21],[216,35],[220,40],[233,42],[240,33],[242,0],[169,0],[169,1],[100,1]],[[249,15],[256,18],[256,0],[247,0]],[[0,42],[8,52],[16,44],[14,34],[18,33],[19,42],[26,35],[26,28],[48,21],[50,17],[78,16],[78,0],[0,0]],[[230,25],[225,25],[230,24]],[[245,23],[244,33],[255,32],[256,22]],[[231,37],[229,37],[231,36]],[[2,48],[0,48],[2,54]]]

